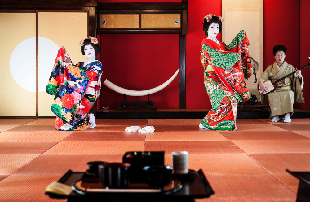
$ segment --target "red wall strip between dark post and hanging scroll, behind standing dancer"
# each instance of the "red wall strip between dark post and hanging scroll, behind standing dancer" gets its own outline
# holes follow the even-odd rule
[[[188,35],[186,36],[186,108],[210,109],[210,99],[203,82],[200,44],[207,38],[202,31],[203,17],[209,13],[222,15],[221,1],[195,0],[188,2]],[[222,39],[219,33],[218,39]]]

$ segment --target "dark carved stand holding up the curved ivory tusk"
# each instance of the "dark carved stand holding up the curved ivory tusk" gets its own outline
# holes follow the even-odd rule
[[[116,111],[122,111],[122,110],[157,111],[157,107],[154,107],[153,101],[150,100],[150,94],[148,94],[147,101],[126,101],[126,94],[124,94],[124,101],[121,101],[120,106],[116,108]]]

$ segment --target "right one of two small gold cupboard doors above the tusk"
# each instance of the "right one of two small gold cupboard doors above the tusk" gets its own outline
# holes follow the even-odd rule
[[[181,14],[141,14],[141,28],[181,28]]]

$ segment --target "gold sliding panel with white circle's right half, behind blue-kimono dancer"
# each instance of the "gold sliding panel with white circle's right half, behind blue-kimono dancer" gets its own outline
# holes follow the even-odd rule
[[[38,34],[38,115],[55,116],[51,111],[55,95],[47,94],[45,87],[60,47],[64,46],[73,64],[86,60],[79,41],[87,37],[87,13],[39,12]]]

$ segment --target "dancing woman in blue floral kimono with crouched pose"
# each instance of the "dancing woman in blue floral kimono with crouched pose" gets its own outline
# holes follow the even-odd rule
[[[55,95],[51,110],[56,115],[56,130],[85,130],[89,123],[90,128],[96,126],[94,114],[87,113],[100,94],[102,65],[95,59],[100,48],[95,37],[81,40],[80,46],[86,61],[73,65],[61,47],[46,86],[46,92]]]

